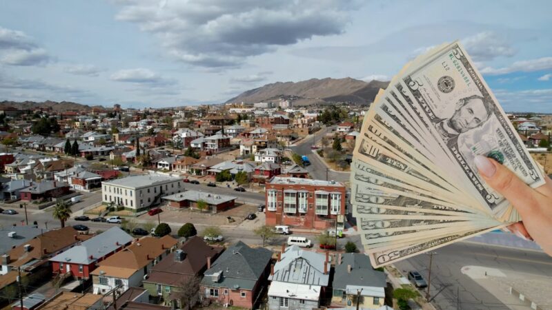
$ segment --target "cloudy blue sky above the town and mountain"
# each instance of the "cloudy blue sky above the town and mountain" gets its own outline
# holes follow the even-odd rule
[[[506,111],[552,112],[550,1],[0,0],[0,101],[172,107],[388,80],[459,39]]]

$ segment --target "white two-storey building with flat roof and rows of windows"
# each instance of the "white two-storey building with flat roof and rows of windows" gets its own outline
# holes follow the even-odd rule
[[[182,178],[146,174],[103,181],[103,203],[116,203],[133,211],[161,203],[161,196],[175,194],[184,189]]]

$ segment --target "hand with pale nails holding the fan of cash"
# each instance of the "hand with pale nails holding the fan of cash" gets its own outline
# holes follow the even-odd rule
[[[517,178],[510,169],[493,159],[475,156],[475,165],[485,182],[512,203],[523,221],[508,228],[517,236],[534,240],[552,256],[552,180],[533,189]]]

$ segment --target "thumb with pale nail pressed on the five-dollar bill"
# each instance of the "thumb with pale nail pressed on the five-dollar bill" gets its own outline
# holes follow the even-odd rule
[[[485,156],[475,156],[475,166],[485,182],[499,192],[523,216],[538,207],[539,192],[526,185],[510,169]]]

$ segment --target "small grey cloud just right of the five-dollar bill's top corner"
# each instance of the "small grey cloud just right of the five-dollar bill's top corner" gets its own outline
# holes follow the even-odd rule
[[[479,32],[460,41],[474,61],[491,61],[498,56],[511,57],[515,49],[495,32]]]

